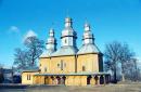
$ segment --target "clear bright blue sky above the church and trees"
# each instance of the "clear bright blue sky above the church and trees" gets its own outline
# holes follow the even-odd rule
[[[46,41],[51,27],[60,48],[67,15],[78,34],[78,48],[87,18],[102,52],[105,43],[117,40],[141,58],[141,0],[0,0],[0,64],[13,64],[14,49],[23,48],[25,36],[36,34]]]

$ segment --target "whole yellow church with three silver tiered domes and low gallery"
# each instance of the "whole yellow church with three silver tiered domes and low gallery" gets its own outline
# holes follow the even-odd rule
[[[39,70],[22,73],[23,84],[94,86],[110,82],[103,73],[103,54],[94,43],[90,25],[85,24],[82,44],[76,45],[77,32],[70,17],[65,18],[61,48],[56,50],[54,30],[49,30],[47,50],[39,57]]]

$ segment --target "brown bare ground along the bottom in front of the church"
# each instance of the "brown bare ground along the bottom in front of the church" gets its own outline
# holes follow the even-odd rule
[[[141,92],[141,83],[94,87],[31,86],[25,89],[0,89],[0,92]]]

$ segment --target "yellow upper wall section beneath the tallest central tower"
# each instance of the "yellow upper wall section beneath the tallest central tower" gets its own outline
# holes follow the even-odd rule
[[[52,74],[75,73],[75,63],[76,63],[75,56],[51,57],[50,73],[52,73]],[[61,67],[63,67],[63,69],[61,69]]]

